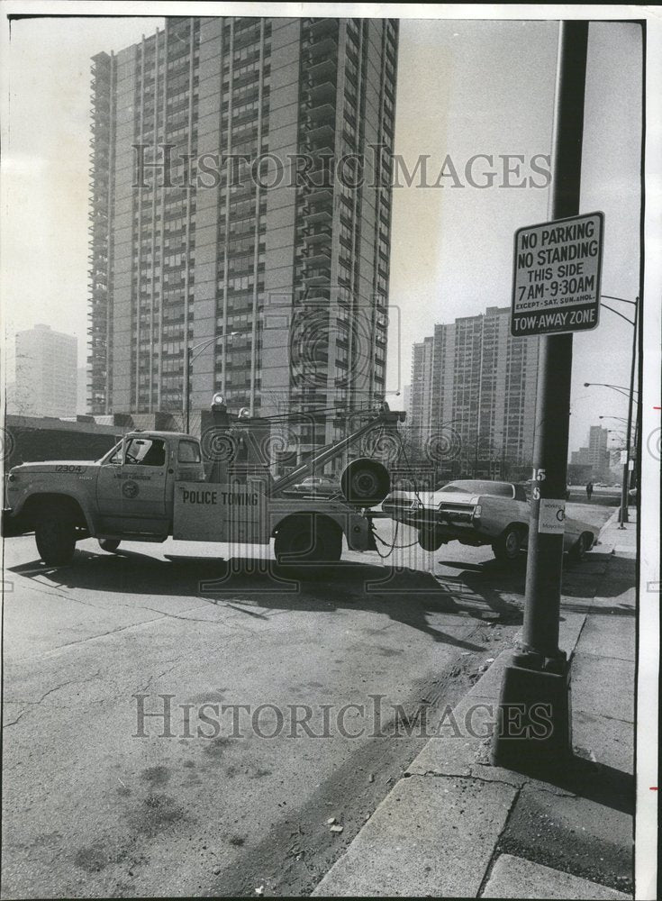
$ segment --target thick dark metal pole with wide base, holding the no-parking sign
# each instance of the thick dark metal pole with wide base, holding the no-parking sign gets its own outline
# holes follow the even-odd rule
[[[559,23],[550,220],[579,213],[587,39],[587,22]],[[540,338],[524,626],[521,650],[504,673],[493,741],[494,762],[512,769],[567,762],[572,752],[567,660],[558,649],[572,339],[572,333]],[[556,510],[560,529],[543,523],[543,507],[545,519]],[[517,733],[507,727],[512,705],[523,713]],[[540,705],[550,724],[544,735],[527,728]]]

